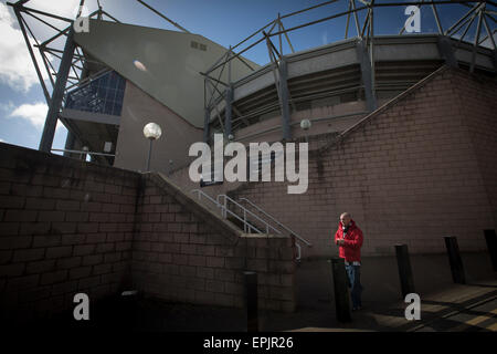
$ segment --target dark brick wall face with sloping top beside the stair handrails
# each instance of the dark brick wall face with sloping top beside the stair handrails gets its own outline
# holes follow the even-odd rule
[[[134,285],[168,301],[243,306],[243,271],[257,272],[262,309],[294,311],[289,238],[243,235],[158,176],[137,214]]]

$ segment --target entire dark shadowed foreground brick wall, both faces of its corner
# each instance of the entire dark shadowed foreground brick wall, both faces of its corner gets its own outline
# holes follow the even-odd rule
[[[158,175],[0,144],[0,319],[19,323],[136,287],[146,296],[295,309],[290,239],[254,238]]]

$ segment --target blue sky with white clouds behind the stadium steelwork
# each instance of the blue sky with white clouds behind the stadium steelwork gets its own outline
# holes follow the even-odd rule
[[[15,1],[15,0],[11,0]],[[28,7],[46,12],[74,18],[78,0],[31,0]],[[234,45],[255,30],[274,20],[278,12],[290,13],[324,1],[321,0],[146,0],[147,3],[165,13],[193,33],[202,34],[224,46]],[[356,1],[358,7],[360,1]],[[384,2],[384,1],[377,1]],[[161,28],[175,29],[168,22],[152,13],[135,0],[101,0],[104,10],[115,15],[119,21]],[[89,11],[97,8],[96,0],[86,0]],[[461,6],[444,6],[438,9],[444,29],[464,14],[467,10]],[[311,20],[347,10],[347,1],[311,10],[283,21],[285,28],[292,28]],[[495,9],[494,9],[495,10]],[[406,15],[403,8],[381,9],[377,12],[374,31],[379,34],[395,34],[403,27]],[[362,20],[364,14],[360,14]],[[35,25],[28,20],[36,33],[49,38],[51,30]],[[53,22],[59,24],[59,22]],[[327,21],[289,34],[294,48],[305,50],[324,45],[343,39],[346,18]],[[495,23],[489,23],[495,29]],[[353,35],[353,22],[350,33]],[[429,7],[421,12],[422,32],[433,33],[436,30],[432,11]],[[474,28],[475,25],[473,25]],[[469,31],[469,38],[474,29]],[[484,33],[486,33],[483,30]],[[28,53],[24,40],[13,15],[13,11],[0,0],[0,142],[38,148],[46,114],[45,100],[38,82],[34,67]],[[258,37],[260,38],[260,37]],[[277,39],[274,40],[277,45]],[[61,43],[59,43],[61,44]],[[284,45],[288,53],[288,45]],[[257,45],[246,58],[260,64],[268,62],[265,43]],[[56,67],[59,63],[53,60]],[[46,81],[47,83],[47,81]],[[50,87],[50,84],[47,84]],[[66,131],[60,124],[53,147],[63,148]]]

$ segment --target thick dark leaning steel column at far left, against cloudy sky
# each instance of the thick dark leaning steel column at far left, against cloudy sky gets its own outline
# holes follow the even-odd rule
[[[67,40],[65,41],[61,65],[59,66],[57,79],[55,81],[52,100],[50,101],[49,112],[46,114],[45,126],[43,128],[43,135],[39,148],[41,152],[50,153],[52,149],[53,137],[55,135],[55,127],[59,119],[59,111],[61,111],[62,107],[65,84],[67,83],[67,76],[71,70],[74,50],[76,48],[73,37],[74,32],[73,28],[71,28],[67,33]]]

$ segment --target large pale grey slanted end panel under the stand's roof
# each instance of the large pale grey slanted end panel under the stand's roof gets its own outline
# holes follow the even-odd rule
[[[203,127],[204,77],[202,72],[229,50],[200,35],[133,24],[91,20],[89,32],[75,33],[85,54],[118,72],[147,94],[197,127]],[[243,59],[253,69],[258,65]],[[252,70],[232,61],[231,81]],[[222,69],[212,76],[228,81]]]

